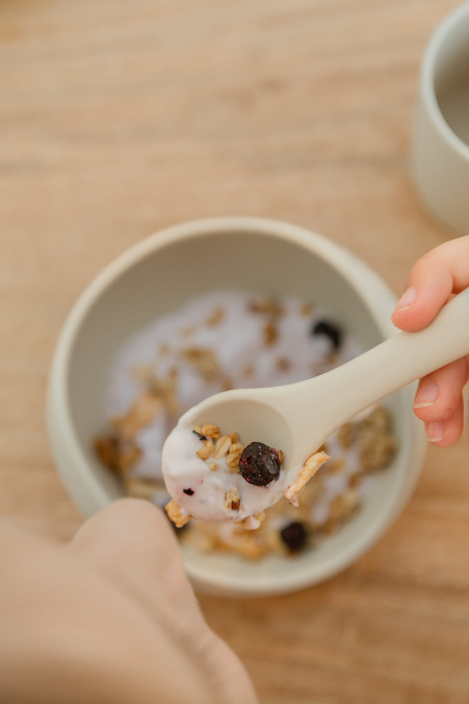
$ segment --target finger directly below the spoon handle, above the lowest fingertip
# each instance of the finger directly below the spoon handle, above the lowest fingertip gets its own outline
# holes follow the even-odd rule
[[[465,358],[442,367],[420,379],[413,410],[425,422],[446,420],[458,407],[463,386],[468,381]]]

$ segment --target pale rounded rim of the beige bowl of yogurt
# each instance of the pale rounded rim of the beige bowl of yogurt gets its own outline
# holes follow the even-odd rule
[[[70,413],[67,391],[68,369],[73,345],[80,332],[82,322],[101,294],[123,275],[127,269],[144,260],[144,258],[150,254],[153,255],[159,250],[176,244],[177,242],[192,239],[193,237],[206,236],[207,234],[218,234],[220,232],[224,232],[225,234],[228,232],[233,234],[261,234],[266,237],[288,241],[300,248],[306,249],[315,256],[320,256],[320,258],[339,272],[354,288],[356,295],[360,298],[363,306],[365,306],[372,315],[375,325],[383,337],[389,337],[389,335],[396,332],[396,328],[392,325],[390,315],[387,318],[382,314],[383,304],[385,307],[389,308],[390,313],[396,301],[396,297],[389,287],[387,287],[387,284],[384,283],[383,279],[365,264],[361,258],[358,258],[358,256],[351,253],[348,249],[327,239],[327,237],[323,235],[307,230],[299,225],[293,225],[289,222],[270,218],[238,215],[201,218],[167,227],[164,230],[151,234],[137,244],[130,246],[129,249],[126,249],[113,259],[111,263],[108,263],[108,265],[89,282],[84,291],[82,291],[82,294],[75,301],[59,332],[49,371],[46,392],[46,420],[49,444],[55,460],[56,470],[61,477],[68,496],[82,515],[92,515],[94,510],[90,511],[89,508],[85,508],[85,501],[82,501],[77,496],[77,492],[75,491],[76,484],[70,482],[70,470],[65,471],[62,466],[61,455],[63,455],[63,452],[60,448],[68,448],[67,453],[73,458],[72,463],[74,465],[73,472],[75,479],[80,476],[80,484],[82,485],[81,495],[84,496],[84,494],[87,494],[87,502],[89,502],[89,496],[91,496],[96,510],[110,503],[108,493],[99,483],[99,480],[87,462],[85,454],[82,452],[80,441],[74,431]],[[363,285],[364,280],[366,286]],[[373,287],[373,296],[366,296],[365,289],[369,290],[370,287]],[[378,312],[380,315],[378,315]],[[400,393],[402,393],[402,391]],[[409,410],[411,411],[411,403]],[[293,575],[284,574],[282,575],[282,579],[278,580],[277,583],[274,583],[272,580],[272,584],[270,584],[267,579],[261,579],[258,586],[254,584],[234,584],[232,574],[218,574],[216,579],[208,578],[208,575],[204,572],[203,566],[189,564],[186,565],[186,568],[189,578],[192,579],[194,585],[203,591],[221,590],[221,593],[231,593],[237,596],[264,596],[274,593],[287,593],[322,582],[355,562],[360,555],[365,553],[365,551],[384,534],[389,525],[392,524],[396,516],[401,512],[401,509],[404,508],[420,474],[420,467],[423,463],[427,443],[423,429],[420,427],[417,419],[415,419],[411,413],[409,413],[409,417],[411,417],[412,425],[413,446],[411,447],[411,451],[413,456],[408,458],[411,469],[409,471],[407,489],[403,493],[401,487],[401,495],[396,498],[392,510],[389,510],[386,515],[378,517],[375,521],[375,525],[373,525],[373,530],[365,531],[363,536],[361,536],[361,540],[357,541],[352,548],[342,551],[346,554],[338,555],[337,558],[329,560],[321,569],[315,567],[314,570],[310,570],[311,574],[308,572],[308,574],[304,574],[303,576],[297,575],[296,578],[293,578]],[[398,498],[399,501],[397,500]],[[235,582],[237,582],[236,579]],[[218,591],[218,593],[220,593],[220,591]]]

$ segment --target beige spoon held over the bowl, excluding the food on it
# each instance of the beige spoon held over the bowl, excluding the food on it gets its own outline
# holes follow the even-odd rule
[[[244,446],[261,441],[282,449],[283,473],[297,473],[351,417],[468,353],[469,289],[465,289],[420,332],[399,332],[341,367],[304,382],[215,394],[188,411],[173,433],[185,419],[218,425],[224,434],[237,432]],[[294,476],[290,479],[294,481]],[[256,508],[270,503],[272,497],[265,492],[265,505],[257,502]]]

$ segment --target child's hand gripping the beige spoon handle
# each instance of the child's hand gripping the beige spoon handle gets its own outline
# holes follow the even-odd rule
[[[469,236],[445,242],[413,265],[392,322],[407,332],[427,327],[452,294],[467,287]],[[463,432],[468,362],[469,356],[423,377],[415,394],[415,415],[425,422],[428,439],[440,447],[454,444]]]

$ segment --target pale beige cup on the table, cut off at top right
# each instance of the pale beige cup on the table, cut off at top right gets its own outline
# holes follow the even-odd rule
[[[469,233],[469,2],[448,15],[427,44],[411,170],[432,213]]]

